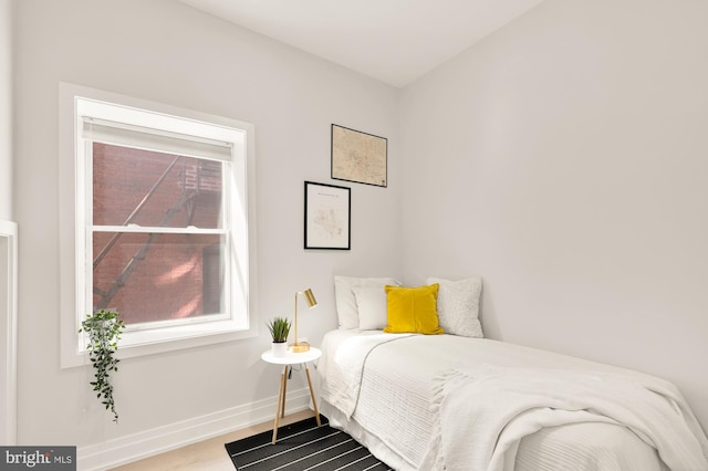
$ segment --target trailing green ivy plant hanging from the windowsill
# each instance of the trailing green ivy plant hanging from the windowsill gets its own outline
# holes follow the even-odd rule
[[[101,310],[94,314],[86,314],[81,327],[79,332],[85,332],[90,339],[86,349],[95,376],[91,386],[96,393],[96,398],[102,399],[101,402],[106,407],[106,410],[113,412],[113,421],[117,423],[118,414],[115,410],[110,374],[118,370],[121,359],[115,355],[125,324],[118,318],[117,312]]]

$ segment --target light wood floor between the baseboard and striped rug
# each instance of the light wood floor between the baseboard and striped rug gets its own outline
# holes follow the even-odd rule
[[[313,417],[310,409],[295,412],[281,419],[280,425],[296,422],[298,420]],[[256,433],[273,429],[273,422],[269,421],[258,426],[237,430],[221,437],[194,443],[188,447],[135,461],[118,468],[115,471],[167,471],[167,470],[198,470],[198,471],[235,471],[233,463],[223,448],[225,443],[240,440]]]

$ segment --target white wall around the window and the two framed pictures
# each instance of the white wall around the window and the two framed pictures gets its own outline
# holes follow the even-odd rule
[[[312,287],[320,305],[301,313],[300,333],[314,344],[336,325],[334,274],[400,275],[400,179],[386,189],[345,185],[351,251],[303,250],[303,181],[344,185],[330,179],[332,123],[387,136],[398,175],[398,92],[171,0],[22,0],[14,9],[19,441],[100,451],[267,398],[274,410],[280,369],[260,360],[266,328],[256,339],[125,359],[118,426],[92,395],[88,368],[60,369],[59,83],[256,125],[259,314],[291,315],[294,293]],[[293,381],[289,390],[304,387]]]

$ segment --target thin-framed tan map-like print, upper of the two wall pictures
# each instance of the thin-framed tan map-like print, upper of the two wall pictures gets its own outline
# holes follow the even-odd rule
[[[332,125],[332,178],[386,187],[388,139]]]

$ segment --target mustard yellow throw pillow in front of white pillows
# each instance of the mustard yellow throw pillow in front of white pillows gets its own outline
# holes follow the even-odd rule
[[[442,334],[438,323],[438,287],[437,283],[418,287],[386,285],[388,325],[384,332]]]

